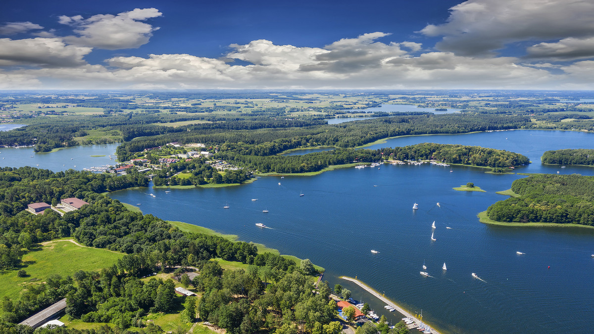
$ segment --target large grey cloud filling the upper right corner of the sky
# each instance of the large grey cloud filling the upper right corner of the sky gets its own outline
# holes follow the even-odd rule
[[[592,0],[468,0],[450,8],[444,24],[420,32],[457,55],[488,55],[507,43],[594,36]]]

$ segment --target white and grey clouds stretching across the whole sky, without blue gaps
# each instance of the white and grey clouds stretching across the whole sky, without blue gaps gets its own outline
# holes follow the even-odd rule
[[[468,0],[444,23],[410,31],[409,40],[362,31],[323,47],[232,43],[219,58],[125,55],[150,47],[163,15],[157,8],[62,15],[62,29],[0,23],[0,89],[592,89],[590,0]],[[430,37],[438,42],[422,43]],[[519,54],[503,55],[511,46]],[[109,56],[91,63],[93,52]]]

